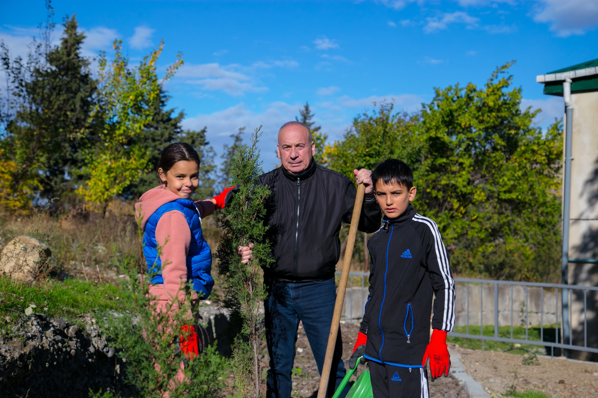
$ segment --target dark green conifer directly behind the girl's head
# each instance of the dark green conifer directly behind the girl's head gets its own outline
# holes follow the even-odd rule
[[[200,131],[184,130],[181,121],[185,117],[184,112],[173,115],[174,109],[167,109],[168,95],[160,88],[160,101],[155,103],[154,115],[151,121],[144,128],[142,134],[132,139],[149,152],[149,166],[151,169],[133,180],[123,190],[126,198],[139,198],[149,189],[159,184],[157,164],[160,161],[162,150],[173,142],[186,142],[193,146],[199,153],[202,163],[199,170],[200,186],[197,189],[197,198],[205,199],[213,193],[215,178],[214,151],[206,140],[206,128]]]

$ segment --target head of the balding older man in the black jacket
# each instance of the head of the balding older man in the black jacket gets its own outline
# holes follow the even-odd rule
[[[280,163],[291,174],[301,174],[312,162],[315,143],[309,142],[309,131],[300,125],[289,125],[278,133],[277,153]]]

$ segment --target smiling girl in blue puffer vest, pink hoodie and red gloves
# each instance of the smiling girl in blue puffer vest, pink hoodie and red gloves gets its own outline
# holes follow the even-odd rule
[[[212,199],[194,202],[191,196],[199,186],[199,165],[192,146],[170,144],[158,163],[162,185],[148,190],[135,205],[145,232],[148,274],[152,275],[149,294],[157,311],[176,311],[176,303],[185,300],[182,284],[190,285],[192,303],[208,298],[214,285],[212,252],[202,234],[202,218],[224,208],[238,189],[230,187]],[[202,351],[202,342],[194,326],[183,325],[181,331],[185,337],[179,347],[187,359],[193,359]]]

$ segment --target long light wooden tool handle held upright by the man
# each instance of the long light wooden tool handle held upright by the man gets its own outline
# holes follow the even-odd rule
[[[347,288],[349,279],[349,267],[351,266],[351,257],[353,257],[353,246],[355,246],[355,236],[361,217],[361,206],[364,204],[365,186],[357,186],[357,195],[355,195],[355,205],[353,206],[353,215],[351,217],[351,226],[349,228],[349,237],[347,237],[347,246],[344,250],[343,269],[340,272],[340,283],[338,283],[337,299],[334,303],[334,314],[332,315],[332,324],[330,325],[330,334],[328,335],[328,345],[326,347],[326,356],[324,357],[324,368],[320,377],[320,389],[318,398],[325,398],[328,390],[328,379],[330,378],[330,369],[332,367],[332,354],[338,335],[338,325],[340,325],[340,314],[343,310],[344,292]]]

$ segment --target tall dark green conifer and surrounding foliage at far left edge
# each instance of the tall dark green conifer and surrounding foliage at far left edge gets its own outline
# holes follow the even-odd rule
[[[42,39],[32,42],[26,62],[12,60],[8,47],[1,45],[8,85],[2,95],[0,168],[20,187],[5,198],[9,208],[26,206],[38,191],[42,198],[64,199],[77,182],[73,177],[83,161],[81,150],[95,137],[93,129],[86,136],[77,134],[87,122],[96,91],[89,61],[80,55],[84,35],[74,16],[65,18],[60,45],[50,48],[52,13],[48,4]]]

